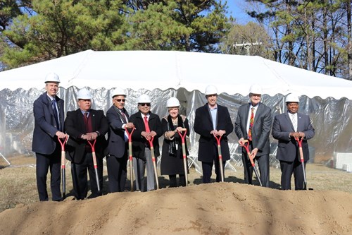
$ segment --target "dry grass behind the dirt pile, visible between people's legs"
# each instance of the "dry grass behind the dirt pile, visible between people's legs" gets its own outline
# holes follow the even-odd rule
[[[35,179],[35,158],[34,157],[11,157],[8,159],[12,167],[0,169],[0,212],[13,208],[18,204],[28,205],[39,200],[37,194],[37,183]],[[0,162],[0,165],[4,162]],[[243,169],[236,167],[237,171],[225,170],[225,181],[234,183],[244,183]],[[352,174],[338,169],[332,169],[322,164],[307,164],[307,185],[315,191],[344,191],[352,193]],[[129,174],[127,174],[129,176]],[[279,188],[281,171],[280,169],[270,168],[270,188]],[[108,193],[108,179],[106,167],[104,167],[104,184],[103,194]],[[48,174],[48,192],[50,192],[50,174]],[[167,188],[169,181],[168,176],[159,176],[159,185],[161,188]],[[215,181],[215,174],[212,176]],[[293,183],[292,179],[292,183]],[[200,184],[201,174],[190,170],[189,185]],[[258,185],[258,181],[254,182]],[[130,181],[126,183],[127,189]],[[294,186],[293,186],[294,188]],[[66,195],[73,196],[73,184],[70,174],[70,167],[66,169]]]

